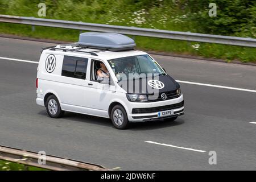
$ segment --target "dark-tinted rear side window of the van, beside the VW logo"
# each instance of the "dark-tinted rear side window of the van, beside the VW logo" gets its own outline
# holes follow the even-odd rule
[[[85,80],[87,64],[87,58],[64,56],[61,75]]]

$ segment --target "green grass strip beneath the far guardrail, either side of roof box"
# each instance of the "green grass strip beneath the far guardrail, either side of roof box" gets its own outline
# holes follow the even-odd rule
[[[43,38],[62,40],[67,42],[77,42],[80,31],[64,28],[51,28],[36,26],[32,31],[31,26],[23,24],[1,23],[0,32],[19,36],[28,36],[31,38]],[[207,58],[223,59],[227,62],[240,60],[243,63],[256,61],[256,48],[226,46],[222,44],[210,44],[199,42],[186,42],[180,40],[148,38],[144,36],[135,36],[137,48],[145,51],[171,52],[183,55],[203,56]],[[199,44],[199,48],[193,48]]]

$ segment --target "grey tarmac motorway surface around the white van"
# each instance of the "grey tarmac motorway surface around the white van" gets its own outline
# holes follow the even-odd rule
[[[37,64],[8,59],[38,61],[52,45],[0,38],[0,145],[123,170],[256,169],[256,67],[153,55],[181,81],[185,115],[117,130],[89,115],[52,119],[36,105]],[[216,165],[208,163],[210,151]]]

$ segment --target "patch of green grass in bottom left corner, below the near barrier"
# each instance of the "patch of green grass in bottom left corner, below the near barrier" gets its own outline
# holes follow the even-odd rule
[[[47,169],[25,166],[24,164],[18,164],[9,162],[6,160],[0,160],[0,171],[48,171]]]

